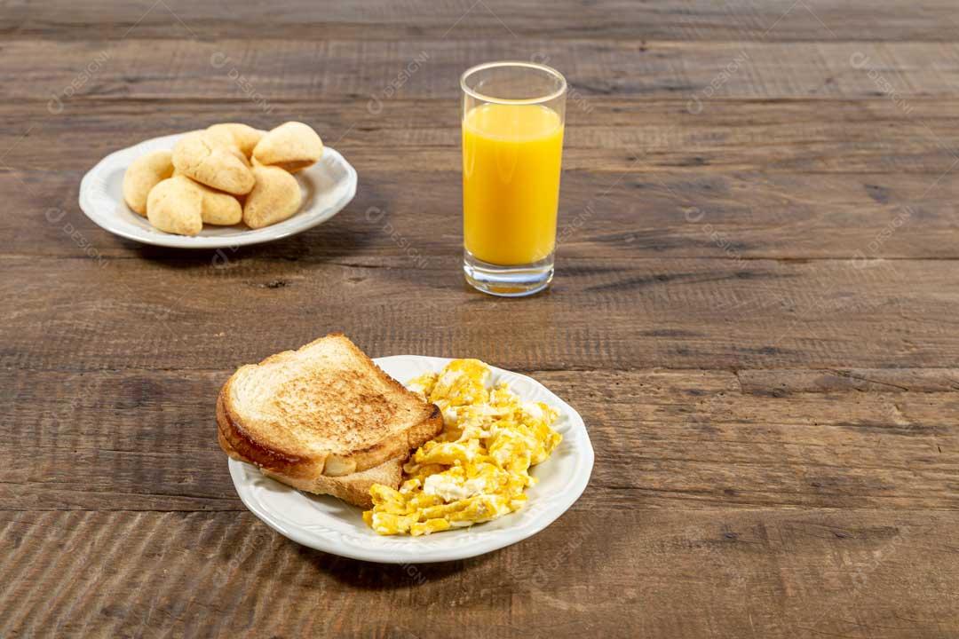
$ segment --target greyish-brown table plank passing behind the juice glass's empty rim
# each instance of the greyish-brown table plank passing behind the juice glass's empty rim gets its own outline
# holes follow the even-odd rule
[[[576,97],[869,99],[954,97],[959,43],[645,42],[513,38],[399,42],[326,39],[198,41],[14,39],[4,44],[0,98],[243,100],[444,99],[481,61],[548,60]],[[21,60],[30,59],[24,65]],[[935,64],[929,60],[935,59]],[[578,102],[577,102],[578,103]],[[52,112],[58,113],[54,103]],[[455,111],[455,108],[451,109]],[[44,110],[44,112],[46,112]]]

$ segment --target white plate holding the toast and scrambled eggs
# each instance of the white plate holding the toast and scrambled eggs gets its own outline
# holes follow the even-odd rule
[[[386,373],[408,381],[439,372],[444,357],[395,355],[374,359]],[[363,523],[363,511],[335,497],[296,491],[264,477],[249,464],[229,460],[230,476],[244,505],[280,535],[317,550],[382,563],[427,563],[476,557],[533,536],[565,513],[590,481],[593,445],[573,408],[541,383],[493,368],[493,382],[506,381],[524,401],[543,401],[559,411],[554,428],[563,441],[550,459],[531,469],[539,483],[526,490],[526,508],[470,528],[428,536],[381,536]]]

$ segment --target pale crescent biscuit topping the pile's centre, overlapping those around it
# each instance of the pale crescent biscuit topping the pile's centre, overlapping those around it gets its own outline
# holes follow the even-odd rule
[[[253,173],[246,157],[234,146],[223,146],[222,136],[209,131],[191,133],[174,147],[173,163],[179,171],[200,184],[244,195],[253,189]]]

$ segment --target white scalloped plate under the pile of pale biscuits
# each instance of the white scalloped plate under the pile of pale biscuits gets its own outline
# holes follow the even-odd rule
[[[357,193],[357,171],[335,148],[323,149],[323,157],[308,169],[296,173],[303,191],[300,210],[278,224],[262,229],[204,224],[199,236],[164,233],[138,216],[123,200],[123,174],[136,158],[154,150],[172,149],[186,133],[153,138],[133,147],[110,153],[83,176],[80,208],[98,226],[128,240],[174,248],[225,248],[279,240],[322,224],[337,215]]]

